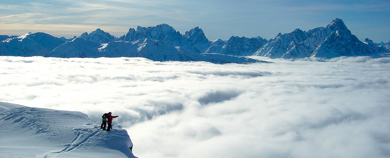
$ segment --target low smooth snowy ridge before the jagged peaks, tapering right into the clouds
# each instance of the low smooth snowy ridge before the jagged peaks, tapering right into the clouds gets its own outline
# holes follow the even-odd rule
[[[184,47],[173,47],[160,40],[140,39],[133,42],[113,41],[99,44],[82,38],[62,44],[45,57],[99,58],[143,57],[154,61],[207,61],[212,63],[265,62],[224,54],[195,53]]]

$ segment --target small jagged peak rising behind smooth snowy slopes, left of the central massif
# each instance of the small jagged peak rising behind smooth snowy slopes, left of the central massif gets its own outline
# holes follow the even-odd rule
[[[101,30],[100,28],[97,28],[95,31],[92,31],[89,34],[87,32],[84,32],[80,35],[80,38],[87,39],[93,42],[98,42],[98,43],[108,43],[111,41],[118,40],[117,37],[111,35],[108,32]]]

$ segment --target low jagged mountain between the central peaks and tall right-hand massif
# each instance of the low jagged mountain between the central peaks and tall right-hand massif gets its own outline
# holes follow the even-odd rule
[[[246,38],[232,36],[228,40],[215,40],[206,50],[206,53],[228,54],[236,56],[250,56],[268,41],[259,37]]]

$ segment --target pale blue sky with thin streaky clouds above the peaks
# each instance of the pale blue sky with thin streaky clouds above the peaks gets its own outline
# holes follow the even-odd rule
[[[117,37],[129,28],[167,23],[184,33],[199,26],[209,40],[273,39],[343,19],[360,40],[390,40],[388,0],[0,0],[0,34],[79,36],[96,28]]]

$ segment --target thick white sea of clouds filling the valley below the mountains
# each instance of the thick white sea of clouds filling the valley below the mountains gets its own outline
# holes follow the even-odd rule
[[[111,111],[139,158],[390,157],[390,58],[261,59],[0,56],[0,101]]]

